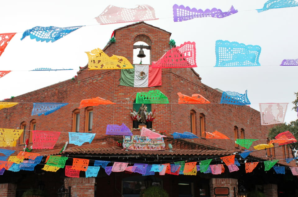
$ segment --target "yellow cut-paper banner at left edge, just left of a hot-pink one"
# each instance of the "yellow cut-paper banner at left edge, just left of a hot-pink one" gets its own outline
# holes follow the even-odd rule
[[[15,147],[23,129],[0,129],[0,147]]]

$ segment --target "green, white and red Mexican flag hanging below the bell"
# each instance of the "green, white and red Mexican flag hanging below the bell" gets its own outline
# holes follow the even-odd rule
[[[121,69],[120,85],[152,87],[161,85],[161,68],[135,64],[131,69]]]

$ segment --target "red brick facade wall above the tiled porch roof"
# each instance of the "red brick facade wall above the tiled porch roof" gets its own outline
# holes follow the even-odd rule
[[[158,60],[169,50],[170,33],[145,23],[128,25],[115,30],[116,42],[106,46],[105,52],[111,56],[121,55],[130,62],[133,61],[133,44],[140,40],[139,35],[146,35],[151,42],[151,61]],[[136,38],[137,37],[137,38]],[[149,42],[149,41],[148,41]],[[236,106],[220,103],[221,93],[201,83],[201,77],[192,68],[166,68],[162,69],[162,86],[150,88],[134,88],[119,85],[120,70],[80,70],[75,80],[63,81],[33,92],[29,92],[8,102],[20,102],[20,104],[5,108],[0,111],[0,125],[2,128],[16,129],[25,121],[27,129],[32,119],[36,120],[36,129],[45,131],[61,131],[61,136],[53,150],[34,150],[42,154],[57,153],[61,150],[65,141],[68,141],[68,133],[72,131],[74,109],[79,107],[82,99],[101,97],[116,103],[115,105],[99,105],[93,107],[93,133],[95,139],[91,144],[84,143],[81,147],[111,147],[115,146],[113,138],[107,138],[107,124],[122,124],[132,126],[129,111],[133,109],[133,100],[137,92],[160,90],[169,98],[169,104],[152,104],[156,109],[156,120],[153,128],[157,131],[167,130],[173,132],[190,131],[190,111],[196,112],[196,131],[199,135],[199,114],[205,115],[205,127],[207,132],[215,130],[234,138],[234,126],[245,130],[247,139],[264,139],[253,142],[252,146],[266,143],[268,128],[260,125],[260,112],[248,106]],[[181,92],[191,96],[202,94],[212,104],[177,104],[178,95]],[[58,111],[47,116],[31,116],[32,103],[61,102],[70,103]],[[85,132],[85,109],[80,109],[80,132]],[[28,132],[29,133],[29,132]],[[135,133],[137,134],[137,133]],[[26,138],[29,137],[29,134]],[[209,147],[241,151],[241,147],[235,148],[234,140],[222,139],[190,139],[188,142],[198,144],[193,148],[205,144]],[[175,144],[174,144],[175,145]],[[29,147],[31,144],[29,144]],[[68,147],[74,147],[70,144]],[[177,142],[177,148],[189,148],[183,143]],[[175,147],[174,147],[175,148]],[[22,150],[23,145],[17,143],[16,150]],[[253,155],[264,156],[265,151],[254,152]],[[277,148],[276,155],[282,155],[282,149]],[[278,159],[278,158],[277,158]]]

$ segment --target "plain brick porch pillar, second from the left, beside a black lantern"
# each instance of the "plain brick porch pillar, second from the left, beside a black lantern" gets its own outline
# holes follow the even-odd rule
[[[71,197],[94,196],[95,177],[66,178],[71,186]],[[65,183],[67,187],[67,182]]]

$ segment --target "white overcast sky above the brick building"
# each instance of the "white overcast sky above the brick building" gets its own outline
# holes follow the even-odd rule
[[[202,82],[223,91],[241,94],[247,90],[251,107],[259,103],[289,103],[286,122],[296,120],[291,110],[297,90],[297,66],[279,66],[283,59],[297,59],[298,7],[272,9],[258,13],[266,0],[189,0],[189,1],[99,1],[99,0],[11,0],[1,4],[0,33],[17,34],[0,56],[0,70],[12,70],[0,78],[0,100],[25,94],[57,83],[71,80],[79,66],[88,63],[85,51],[103,49],[114,29],[131,23],[100,25],[94,19],[108,5],[134,8],[148,4],[159,20],[145,21],[172,33],[177,46],[196,42],[196,72]],[[190,8],[228,11],[231,5],[237,14],[223,19],[197,18],[174,22],[173,5]],[[20,41],[26,29],[35,26],[70,27],[86,25],[56,42],[36,42],[29,37]],[[215,41],[236,41],[262,48],[259,67],[214,67]],[[117,55],[117,54],[115,54]],[[35,68],[69,69],[72,71],[30,71]],[[100,95],[99,95],[100,96]]]

